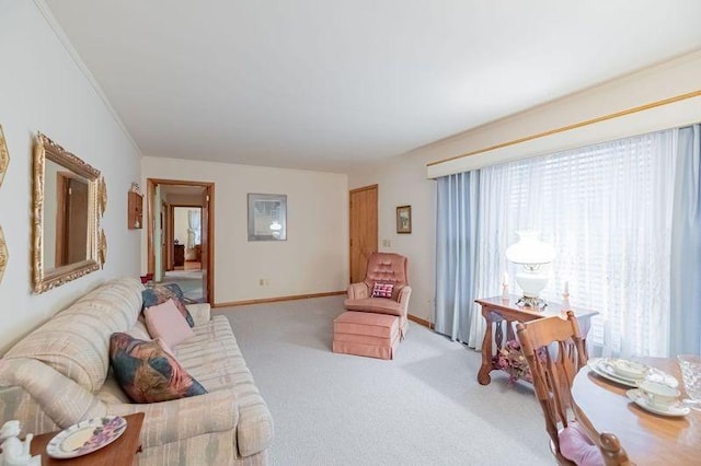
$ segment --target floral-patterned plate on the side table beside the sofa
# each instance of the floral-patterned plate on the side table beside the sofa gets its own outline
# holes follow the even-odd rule
[[[111,444],[127,429],[126,419],[119,416],[94,418],[78,422],[56,434],[46,453],[54,458],[74,458]]]

